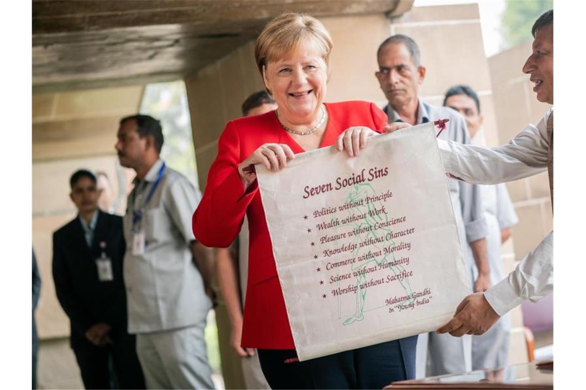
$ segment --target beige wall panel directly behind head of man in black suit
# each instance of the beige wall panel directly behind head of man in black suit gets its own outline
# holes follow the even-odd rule
[[[116,156],[105,156],[33,163],[33,213],[74,210],[69,199],[71,174],[80,168],[100,170],[115,181],[117,160]],[[112,184],[117,191],[116,183]]]

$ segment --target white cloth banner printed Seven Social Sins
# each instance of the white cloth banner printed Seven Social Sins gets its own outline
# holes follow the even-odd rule
[[[299,360],[435,330],[470,294],[431,123],[256,171]]]

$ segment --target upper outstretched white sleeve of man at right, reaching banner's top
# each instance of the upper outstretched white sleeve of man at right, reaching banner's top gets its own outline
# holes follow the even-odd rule
[[[547,118],[527,125],[506,145],[482,147],[438,140],[446,172],[474,184],[499,184],[547,170]]]

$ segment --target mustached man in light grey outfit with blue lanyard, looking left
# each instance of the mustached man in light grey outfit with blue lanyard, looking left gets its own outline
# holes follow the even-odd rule
[[[137,335],[147,388],[210,389],[203,330],[213,251],[193,237],[201,194],[161,160],[162,146],[161,123],[152,116],[120,120],[120,164],[137,172],[124,216],[128,332]]]

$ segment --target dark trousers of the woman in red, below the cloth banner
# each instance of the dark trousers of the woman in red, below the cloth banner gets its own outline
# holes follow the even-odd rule
[[[258,350],[271,389],[381,389],[415,376],[417,336],[307,361],[284,363],[295,350]]]

